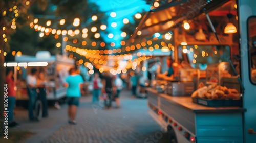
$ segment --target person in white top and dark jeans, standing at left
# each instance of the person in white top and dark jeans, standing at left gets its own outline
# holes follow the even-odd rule
[[[27,82],[27,89],[28,89],[28,96],[29,96],[29,104],[28,104],[28,111],[29,111],[29,120],[30,121],[36,121],[36,118],[34,116],[34,106],[37,99],[37,93],[36,93],[36,73],[37,69],[32,68],[31,74],[27,76],[26,82]]]

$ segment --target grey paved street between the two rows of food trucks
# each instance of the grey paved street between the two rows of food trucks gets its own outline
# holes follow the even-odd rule
[[[77,125],[68,124],[67,106],[62,105],[60,110],[50,108],[48,118],[34,123],[28,121],[26,110],[16,109],[20,126],[12,130],[34,133],[21,142],[167,142],[167,134],[147,113],[146,99],[133,99],[130,91],[122,91],[120,109],[102,110],[91,104],[91,98],[81,98]]]

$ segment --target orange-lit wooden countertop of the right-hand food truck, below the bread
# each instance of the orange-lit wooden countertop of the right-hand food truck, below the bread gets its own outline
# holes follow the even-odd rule
[[[246,111],[246,109],[241,107],[207,107],[193,103],[191,97],[173,97],[167,94],[158,93],[155,89],[152,88],[147,88],[146,90],[151,94],[155,94],[155,96],[160,96],[169,102],[177,106],[181,106],[186,110],[194,113],[239,113]]]

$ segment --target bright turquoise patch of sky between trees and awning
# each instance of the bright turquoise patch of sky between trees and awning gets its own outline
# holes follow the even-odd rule
[[[133,16],[136,13],[141,13],[143,9],[145,11],[150,10],[150,5],[147,5],[145,1],[143,0],[98,0],[91,2],[95,2],[99,7],[100,10],[105,12],[108,18],[108,25],[107,25],[107,31],[109,33],[112,33],[114,35],[113,38],[109,38],[108,34],[100,33],[104,40],[106,42],[115,42],[115,47],[120,47],[121,40],[123,37],[121,37],[121,28],[123,27],[123,19],[127,18],[129,19],[129,22],[133,22]],[[115,12],[116,17],[111,17],[110,13]],[[116,22],[117,26],[115,28],[111,27],[111,23]]]

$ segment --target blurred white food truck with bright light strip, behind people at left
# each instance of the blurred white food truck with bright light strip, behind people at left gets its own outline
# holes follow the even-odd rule
[[[28,100],[26,77],[32,68],[37,69],[37,74],[44,73],[47,80],[47,100],[55,103],[66,97],[66,88],[63,84],[69,75],[69,69],[75,66],[75,61],[66,55],[51,56],[48,51],[38,51],[35,56],[18,55],[15,62],[6,63],[6,66],[8,65],[14,66],[17,105],[25,106],[24,102]]]

